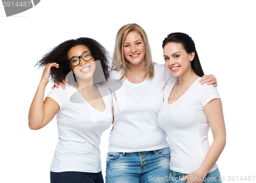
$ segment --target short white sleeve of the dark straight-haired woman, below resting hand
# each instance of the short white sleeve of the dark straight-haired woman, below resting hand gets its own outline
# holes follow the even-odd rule
[[[198,87],[198,101],[202,106],[205,106],[213,99],[220,99],[219,92],[212,85],[203,84]]]

